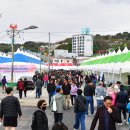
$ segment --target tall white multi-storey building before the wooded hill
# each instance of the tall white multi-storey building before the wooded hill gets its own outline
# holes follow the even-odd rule
[[[90,34],[79,34],[72,36],[72,53],[78,57],[93,55],[93,36]]]

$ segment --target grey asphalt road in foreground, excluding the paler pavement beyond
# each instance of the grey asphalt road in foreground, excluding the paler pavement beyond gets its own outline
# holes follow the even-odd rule
[[[30,125],[31,125],[32,113],[35,110],[36,110],[35,107],[22,107],[23,118],[19,120],[17,130],[31,130]],[[46,110],[46,113],[49,120],[49,128],[51,130],[54,122],[53,113],[50,111],[49,108]],[[90,129],[91,121],[92,117],[86,118],[86,130]],[[69,127],[69,130],[73,130],[73,124],[74,124],[73,108],[64,111],[64,122]],[[3,127],[1,127],[0,130],[3,130]],[[120,128],[118,127],[117,130],[128,130],[128,126],[122,126]]]

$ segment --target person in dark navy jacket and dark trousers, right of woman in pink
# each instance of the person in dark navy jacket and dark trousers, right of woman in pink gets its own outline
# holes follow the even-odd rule
[[[117,106],[117,108],[119,109],[120,117],[122,117],[121,112],[123,113],[125,124],[127,123],[127,119],[126,119],[127,118],[126,117],[127,103],[128,103],[128,94],[124,91],[124,85],[120,85],[120,92],[116,96],[115,106]],[[122,125],[122,123],[118,125]]]

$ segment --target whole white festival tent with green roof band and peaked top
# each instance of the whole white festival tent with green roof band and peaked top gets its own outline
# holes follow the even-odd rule
[[[130,51],[125,47],[121,52],[110,52],[108,55],[102,55],[90,60],[84,61],[79,68],[93,73],[104,73],[106,81],[115,82],[120,80],[127,81],[127,75],[130,74]]]

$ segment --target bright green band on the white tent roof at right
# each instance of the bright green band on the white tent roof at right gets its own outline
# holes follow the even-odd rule
[[[95,65],[95,64],[107,64],[107,63],[118,63],[118,62],[123,63],[126,61],[130,61],[130,52],[113,55],[113,56],[109,56],[109,57],[104,57],[104,58],[100,58],[100,59],[95,59],[95,60],[91,60],[91,61],[85,61],[81,64],[81,66]]]

